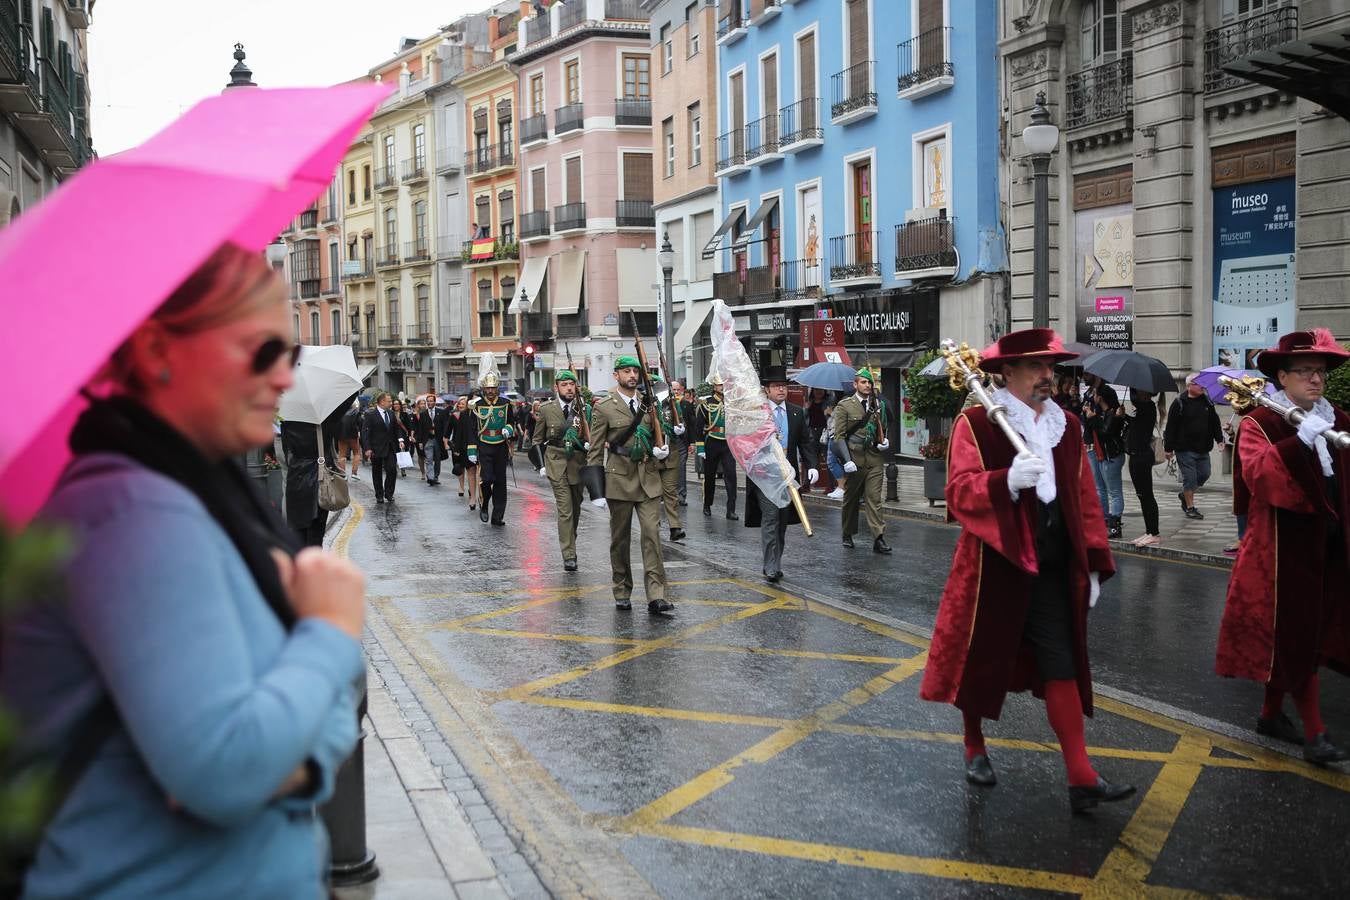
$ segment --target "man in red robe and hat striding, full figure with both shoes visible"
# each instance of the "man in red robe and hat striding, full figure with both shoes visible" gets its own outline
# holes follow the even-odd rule
[[[919,696],[952,703],[965,725],[965,777],[996,781],[981,719],[998,719],[1008,691],[1045,698],[1068,769],[1069,807],[1089,810],[1134,793],[1088,760],[1092,714],[1087,617],[1115,572],[1083,428],[1050,401],[1054,364],[1073,359],[1049,328],[1013,332],[981,368],[1030,449],[1018,455],[983,406],[964,410],[948,448],[948,515],[963,525],[933,629]]]

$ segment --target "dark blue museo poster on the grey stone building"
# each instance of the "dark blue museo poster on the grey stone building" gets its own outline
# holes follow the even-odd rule
[[[1214,192],[1214,363],[1256,370],[1293,331],[1293,178]]]

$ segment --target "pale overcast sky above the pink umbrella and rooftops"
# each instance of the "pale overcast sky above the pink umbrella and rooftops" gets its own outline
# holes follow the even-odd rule
[[[490,0],[104,0],[89,27],[90,130],[100,155],[127,150],[230,81],[244,45],[263,88],[366,74]]]

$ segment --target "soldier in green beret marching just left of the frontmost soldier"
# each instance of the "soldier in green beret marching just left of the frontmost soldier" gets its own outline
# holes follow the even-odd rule
[[[529,460],[540,475],[548,478],[558,507],[558,544],[563,549],[563,568],[576,571],[576,525],[582,511],[582,466],[587,447],[582,440],[590,422],[590,407],[576,395],[576,375],[566,368],[554,376],[558,395],[539,405],[535,414],[535,443]]]

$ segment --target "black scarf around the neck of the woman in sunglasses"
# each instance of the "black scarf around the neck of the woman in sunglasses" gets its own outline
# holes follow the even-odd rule
[[[301,545],[238,460],[208,461],[173,426],[126,397],[92,401],[70,432],[70,452],[120,453],[192,491],[230,536],[281,623],[288,630],[296,623],[271,549],[294,556]]]

